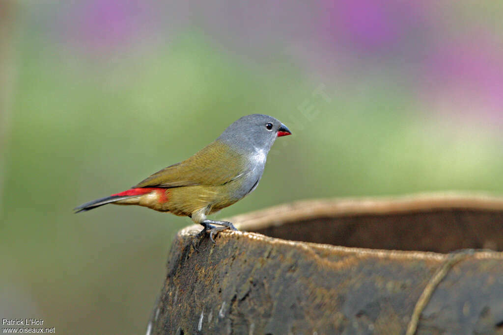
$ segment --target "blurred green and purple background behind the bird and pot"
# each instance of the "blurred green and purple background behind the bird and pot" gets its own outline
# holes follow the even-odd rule
[[[144,332],[190,220],[72,208],[246,114],[294,135],[216,218],[315,197],[503,193],[501,17],[501,1],[3,0],[0,318]]]

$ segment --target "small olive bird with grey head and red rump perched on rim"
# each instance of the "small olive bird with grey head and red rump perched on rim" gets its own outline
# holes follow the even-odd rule
[[[230,206],[255,190],[274,141],[291,134],[273,117],[244,116],[185,161],[152,174],[124,192],[82,204],[75,211],[114,203],[189,216],[204,227],[201,234],[209,232],[214,243],[215,234],[236,228],[231,222],[210,220],[206,215]]]

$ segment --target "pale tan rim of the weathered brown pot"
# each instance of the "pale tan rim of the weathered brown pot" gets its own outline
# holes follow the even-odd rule
[[[450,255],[424,251],[401,251],[351,248],[312,242],[291,241],[272,238],[258,233],[247,232],[271,226],[281,226],[289,222],[308,220],[315,217],[341,217],[350,215],[385,215],[405,212],[427,212],[438,209],[462,208],[476,210],[503,211],[503,197],[481,193],[419,193],[394,197],[354,197],[328,198],[295,201],[266,209],[236,215],[225,220],[234,223],[240,231],[223,231],[220,238],[234,238],[236,235],[250,243],[259,242],[301,248],[306,252],[329,252],[332,254],[351,254],[357,257],[376,257],[391,259],[423,259],[443,262]],[[192,238],[199,225],[191,225],[180,230],[177,239]],[[218,243],[218,242],[217,242]],[[476,259],[503,259],[503,252],[490,250],[473,251],[470,257]]]

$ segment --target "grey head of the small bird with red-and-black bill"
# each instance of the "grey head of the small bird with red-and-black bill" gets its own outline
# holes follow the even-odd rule
[[[267,155],[277,137],[290,134],[279,120],[264,114],[250,114],[227,127],[217,141],[242,153],[260,151]]]

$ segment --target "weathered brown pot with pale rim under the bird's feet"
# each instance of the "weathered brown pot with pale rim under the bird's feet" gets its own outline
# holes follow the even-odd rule
[[[147,333],[400,334],[428,287],[416,333],[503,334],[501,198],[316,200],[233,222],[274,238],[223,232],[197,252],[198,228],[180,231]]]

